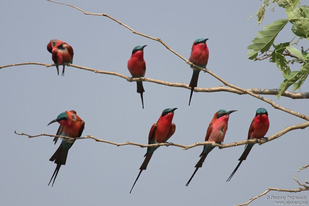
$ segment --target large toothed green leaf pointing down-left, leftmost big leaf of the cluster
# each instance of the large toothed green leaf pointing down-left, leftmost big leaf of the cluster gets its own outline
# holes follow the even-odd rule
[[[279,19],[269,25],[267,25],[266,30],[257,32],[257,35],[247,48],[253,51],[248,52],[248,59],[254,59],[257,57],[258,52],[264,53],[269,50],[273,41],[275,40],[278,33],[283,29],[283,27],[288,23],[288,19]]]

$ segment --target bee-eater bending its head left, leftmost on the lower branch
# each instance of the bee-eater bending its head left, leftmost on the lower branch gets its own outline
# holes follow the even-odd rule
[[[59,127],[59,129],[62,127],[61,136],[66,136],[66,137],[81,137],[83,130],[85,128],[85,122],[81,120],[79,116],[76,115],[76,111],[74,110],[62,112],[60,115],[57,116],[57,119],[51,121],[49,124],[52,124],[54,122],[58,122],[61,125]],[[57,141],[57,139],[55,141]],[[53,173],[53,176],[49,181],[49,184],[50,184],[53,177],[55,176],[52,186],[54,185],[55,179],[57,177],[57,174],[60,170],[61,165],[66,164],[66,158],[68,156],[68,151],[71,148],[71,146],[74,144],[74,141],[75,140],[62,139],[60,146],[58,147],[56,152],[53,154],[53,156],[49,159],[49,161],[52,161],[52,162],[55,161],[55,164],[57,164],[56,169]]]

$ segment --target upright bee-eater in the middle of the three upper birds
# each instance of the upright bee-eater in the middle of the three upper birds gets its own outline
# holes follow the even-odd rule
[[[136,46],[132,50],[131,58],[128,61],[128,69],[132,75],[132,78],[144,77],[146,72],[146,63],[144,60],[144,46]],[[136,82],[137,84],[137,93],[141,94],[142,105],[144,109],[144,101],[143,101],[143,82]]]

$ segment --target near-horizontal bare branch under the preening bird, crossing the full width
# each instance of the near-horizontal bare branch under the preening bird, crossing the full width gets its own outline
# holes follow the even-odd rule
[[[10,65],[3,65],[0,66],[0,69],[5,68],[5,67],[11,67],[11,66],[19,66],[19,65],[43,65],[45,67],[51,67],[54,66],[54,64],[45,64],[45,63],[39,63],[39,62],[25,62],[25,63],[16,63],[16,64],[10,64]],[[166,86],[173,86],[173,87],[183,87],[186,89],[191,90],[191,87],[189,87],[188,84],[184,84],[184,83],[177,83],[177,82],[166,82],[166,81],[162,81],[162,80],[157,80],[157,79],[152,79],[152,78],[130,78],[124,74],[120,74],[117,72],[109,72],[109,71],[104,71],[104,70],[98,70],[98,69],[92,69],[89,67],[84,67],[84,66],[79,66],[79,65],[73,65],[73,64],[65,64],[65,65],[70,65],[71,67],[75,67],[78,69],[84,69],[87,71],[92,71],[94,73],[98,73],[98,74],[108,74],[108,75],[114,75],[114,76],[118,76],[121,78],[126,79],[129,82],[153,82],[156,84],[161,84],[161,85],[166,85]],[[246,89],[251,91],[254,94],[258,94],[258,95],[277,95],[278,94],[278,90],[277,89],[258,89],[258,88],[252,88],[252,89]],[[235,93],[238,95],[245,95],[247,93],[245,92],[241,92],[239,90],[235,90],[231,87],[225,87],[225,86],[217,86],[217,87],[210,87],[210,88],[201,88],[201,87],[195,87],[194,88],[195,92],[221,92],[221,91],[225,91],[225,92],[231,92],[231,93]],[[291,99],[309,99],[309,92],[289,92],[289,91],[285,91],[281,96],[285,96]]]

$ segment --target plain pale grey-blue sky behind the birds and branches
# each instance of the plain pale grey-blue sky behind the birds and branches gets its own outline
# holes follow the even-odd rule
[[[257,26],[255,17],[246,19],[260,7],[260,1],[66,0],[64,3],[88,12],[107,13],[139,32],[161,38],[186,58],[194,40],[209,38],[207,68],[236,86],[272,89],[283,81],[274,63],[248,60],[246,48],[263,26],[286,18],[281,8],[275,12],[268,10]],[[46,45],[57,38],[73,47],[73,64],[129,76],[127,61],[132,49],[148,45],[144,49],[146,77],[190,82],[192,70],[183,60],[160,43],[134,35],[111,19],[83,15],[74,8],[48,1],[2,1],[0,5],[0,65],[53,63]],[[291,26],[280,32],[278,41],[293,38]],[[292,68],[296,70],[297,66],[294,64]],[[76,110],[85,121],[83,136],[143,144],[147,143],[151,125],[165,108],[179,108],[173,120],[176,132],[170,141],[185,145],[204,141],[208,124],[219,109],[238,110],[230,116],[224,143],[247,138],[259,107],[265,107],[269,113],[266,136],[304,122],[249,95],[194,93],[188,106],[190,90],[150,82],[143,85],[145,109],[136,93],[136,83],[115,76],[73,67],[66,67],[65,77],[57,76],[55,67],[24,65],[1,69],[1,205],[235,205],[247,202],[268,187],[296,189],[294,174],[301,182],[308,179],[308,170],[297,172],[308,164],[308,132],[296,130],[265,145],[255,145],[229,183],[226,179],[238,164],[243,146],[215,148],[188,187],[185,184],[202,147],[187,151],[160,147],[131,194],[146,148],[78,140],[54,186],[48,187],[56,167],[49,158],[59,143],[53,145],[52,137],[28,139],[15,135],[14,131],[56,134],[58,125],[47,124],[65,110]],[[200,74],[199,87],[221,85],[209,74]],[[302,91],[308,91],[308,82]],[[307,99],[265,97],[307,114]],[[308,192],[274,191],[269,195],[308,196]],[[261,197],[250,205],[275,203]]]

